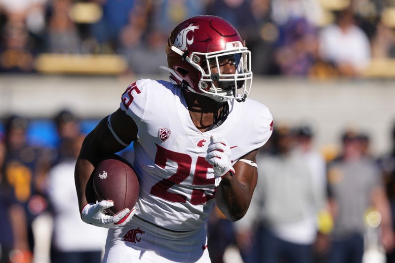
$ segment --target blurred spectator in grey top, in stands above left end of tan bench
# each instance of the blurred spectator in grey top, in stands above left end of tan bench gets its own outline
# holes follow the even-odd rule
[[[47,29],[47,49],[51,53],[81,53],[81,38],[69,12],[71,0],[51,2]]]

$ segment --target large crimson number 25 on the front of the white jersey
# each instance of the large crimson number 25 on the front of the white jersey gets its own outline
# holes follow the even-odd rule
[[[157,145],[157,154],[155,156],[155,164],[161,168],[166,167],[167,160],[172,160],[177,163],[178,168],[175,174],[167,179],[162,179],[151,188],[151,194],[171,202],[185,203],[187,196],[181,193],[169,192],[175,184],[180,184],[186,180],[191,172],[192,157],[188,154],[167,150]],[[196,168],[192,185],[213,185],[215,178],[207,178],[207,169],[212,167],[204,157],[197,157]],[[212,195],[205,195],[204,189],[193,189],[191,196],[191,204],[199,205],[204,204],[208,200],[214,198],[215,190]]]

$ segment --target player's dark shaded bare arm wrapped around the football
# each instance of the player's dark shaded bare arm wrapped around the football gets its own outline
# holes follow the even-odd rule
[[[111,116],[111,125],[119,138],[130,144],[137,139],[137,126],[128,115],[118,109]],[[87,203],[95,202],[90,176],[94,167],[105,156],[123,150],[107,126],[107,117],[90,132],[83,141],[75,169],[75,182],[79,200],[79,211]]]

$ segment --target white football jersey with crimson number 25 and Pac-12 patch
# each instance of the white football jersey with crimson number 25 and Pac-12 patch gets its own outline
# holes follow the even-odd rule
[[[182,89],[168,81],[140,79],[122,94],[120,108],[138,126],[133,168],[140,180],[137,213],[167,229],[201,227],[210,213],[216,187],[206,160],[210,136],[224,138],[235,163],[263,146],[272,134],[268,108],[246,99],[230,101],[222,125],[201,132],[192,122]]]

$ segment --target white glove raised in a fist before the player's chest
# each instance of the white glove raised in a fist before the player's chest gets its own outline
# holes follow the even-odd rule
[[[231,148],[225,139],[217,139],[211,136],[205,159],[213,166],[216,178],[223,177],[229,171],[235,173],[231,162],[231,155]]]

